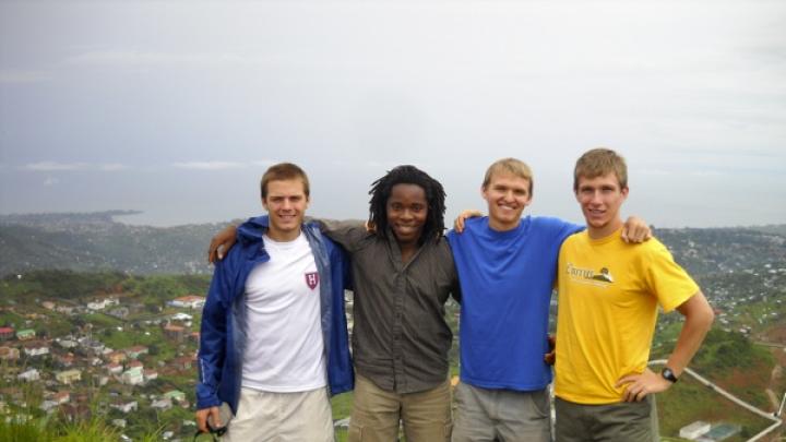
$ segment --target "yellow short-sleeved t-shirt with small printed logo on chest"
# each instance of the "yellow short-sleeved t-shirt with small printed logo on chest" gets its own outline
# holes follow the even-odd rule
[[[660,241],[628,244],[619,230],[569,237],[558,288],[555,394],[577,404],[620,402],[617,381],[646,368],[658,303],[669,312],[699,291]]]

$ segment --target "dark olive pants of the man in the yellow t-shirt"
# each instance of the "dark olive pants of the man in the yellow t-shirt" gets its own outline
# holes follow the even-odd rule
[[[655,396],[642,402],[585,405],[555,398],[559,442],[657,441]]]

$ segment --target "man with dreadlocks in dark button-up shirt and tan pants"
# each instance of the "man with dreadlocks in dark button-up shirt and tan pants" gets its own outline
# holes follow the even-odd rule
[[[448,441],[453,336],[444,303],[460,295],[442,237],[445,193],[422,170],[398,166],[369,194],[372,231],[358,222],[321,222],[352,261],[357,379],[349,441],[395,441],[400,422],[409,442]],[[214,237],[211,259],[231,242],[228,232]]]

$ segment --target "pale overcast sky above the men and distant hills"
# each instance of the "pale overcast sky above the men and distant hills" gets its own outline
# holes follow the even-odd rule
[[[452,218],[513,156],[527,213],[580,222],[596,146],[656,227],[786,223],[786,2],[0,2],[2,214],[247,217],[289,160],[312,215],[414,164]]]

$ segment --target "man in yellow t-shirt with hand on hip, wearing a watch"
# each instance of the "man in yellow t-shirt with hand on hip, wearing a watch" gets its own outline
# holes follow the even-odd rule
[[[576,162],[573,189],[587,229],[560,249],[555,395],[556,439],[648,441],[652,393],[667,390],[699,349],[713,311],[691,277],[652,239],[620,239],[628,196],[624,159],[596,148]],[[657,306],[684,324],[666,368],[647,367]]]

